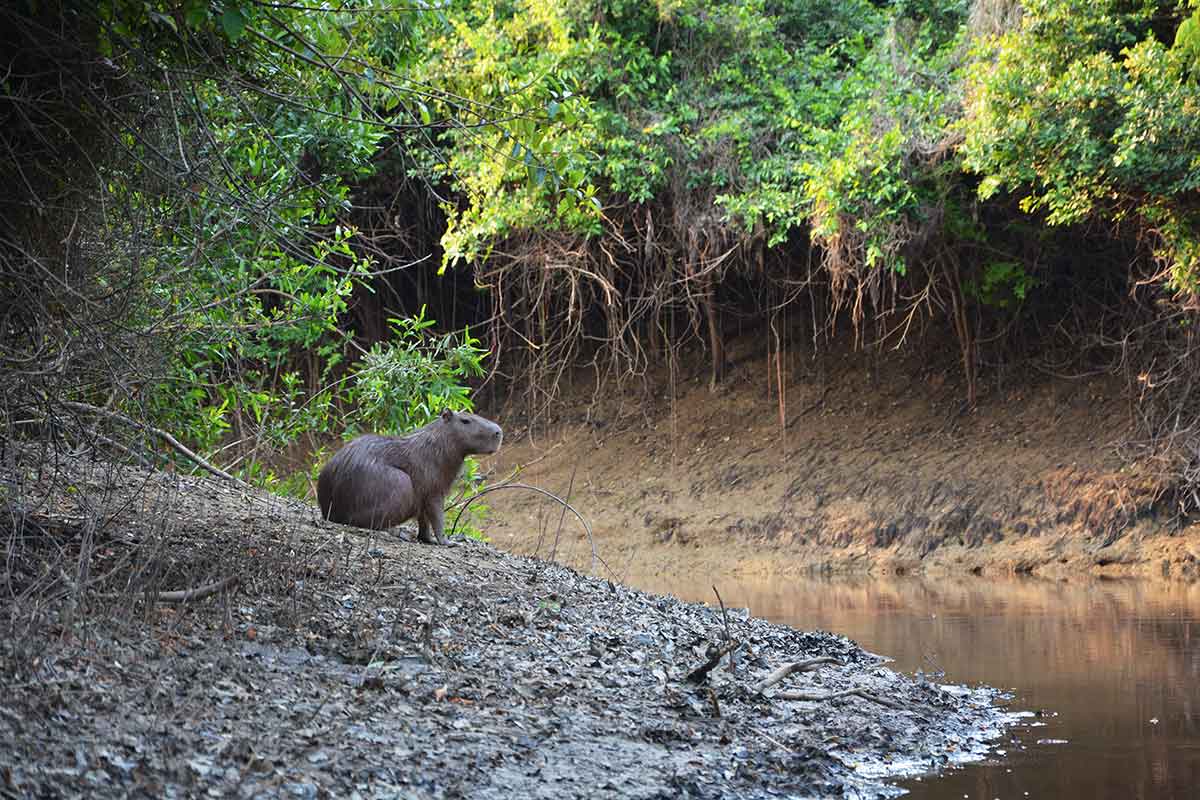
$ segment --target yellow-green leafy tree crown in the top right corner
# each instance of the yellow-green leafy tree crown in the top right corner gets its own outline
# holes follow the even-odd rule
[[[1200,84],[1187,6],[1031,0],[1020,29],[980,44],[961,130],[980,197],[1007,190],[1050,224],[1140,219],[1170,284],[1195,293]],[[1170,19],[1181,24],[1164,37]]]

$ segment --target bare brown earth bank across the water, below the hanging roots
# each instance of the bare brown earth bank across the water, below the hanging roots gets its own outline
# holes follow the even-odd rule
[[[938,360],[846,343],[792,354],[782,371],[749,355],[715,390],[696,363],[624,391],[580,379],[553,415],[496,411],[506,445],[494,476],[569,494],[593,540],[553,503],[512,491],[486,499],[493,542],[581,570],[596,569],[594,543],[635,584],[814,571],[1200,575],[1200,525],[1136,459],[1121,380],[992,368],[970,410],[950,348]]]

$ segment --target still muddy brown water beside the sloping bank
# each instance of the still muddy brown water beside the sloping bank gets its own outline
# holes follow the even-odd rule
[[[638,588],[845,634],[901,672],[1037,712],[986,760],[910,780],[928,800],[1200,798],[1200,587],[1112,581],[628,576]]]

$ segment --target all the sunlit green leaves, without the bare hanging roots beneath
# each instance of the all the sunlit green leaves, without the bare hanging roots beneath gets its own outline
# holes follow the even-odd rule
[[[422,312],[352,349],[373,264],[350,211],[382,164],[436,187],[443,269],[505,239],[624,236],[653,212],[680,240],[808,236],[830,270],[902,276],[918,240],[988,252],[966,294],[1014,311],[1039,283],[973,213],[1012,197],[1051,225],[1135,222],[1196,293],[1200,7],[1022,7],[972,41],[965,0],[96,4],[95,60],[144,83],[97,167],[97,205],[128,213],[88,237],[152,242],[112,273],[132,276],[126,326],[161,343],[150,374],[112,383],[126,410],[284,492],[310,476],[260,452],[469,408],[469,332]],[[77,113],[104,119],[86,97]]]

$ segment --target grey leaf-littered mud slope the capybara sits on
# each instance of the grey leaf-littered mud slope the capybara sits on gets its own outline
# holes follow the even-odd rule
[[[6,537],[29,590],[6,600],[0,638],[7,795],[872,796],[1002,724],[988,690],[738,609],[479,543],[366,536],[208,480],[46,475],[64,491],[4,476],[24,487]],[[155,600],[228,577],[233,594]],[[689,680],[730,637],[733,663]],[[865,696],[776,693],[852,688]]]

